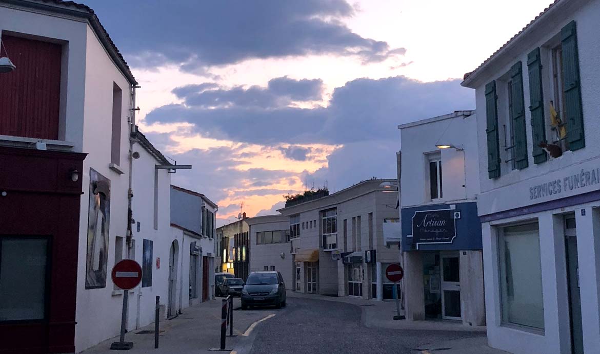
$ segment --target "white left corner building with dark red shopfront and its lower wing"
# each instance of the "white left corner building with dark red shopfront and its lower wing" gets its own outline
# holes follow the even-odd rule
[[[0,352],[80,352],[119,334],[116,262],[143,265],[128,331],[169,296],[170,173],[191,167],[137,129],[137,81],[91,8],[0,1],[0,40]]]

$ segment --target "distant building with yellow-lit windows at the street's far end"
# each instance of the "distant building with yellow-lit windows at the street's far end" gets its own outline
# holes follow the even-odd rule
[[[221,272],[246,279],[250,270],[250,226],[246,213],[217,229],[221,240]]]

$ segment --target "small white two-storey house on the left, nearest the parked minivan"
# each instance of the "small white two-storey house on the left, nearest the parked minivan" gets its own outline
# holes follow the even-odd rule
[[[205,195],[171,186],[170,313],[215,297],[217,204]],[[175,290],[177,289],[177,290]]]

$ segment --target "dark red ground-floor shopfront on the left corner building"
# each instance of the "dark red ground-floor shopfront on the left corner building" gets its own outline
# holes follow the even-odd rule
[[[0,238],[43,237],[47,246],[45,315],[0,320],[0,353],[75,352],[77,250],[83,153],[0,147]],[[27,249],[23,249],[26,259]],[[10,274],[10,269],[0,273]],[[23,289],[28,291],[28,289]]]

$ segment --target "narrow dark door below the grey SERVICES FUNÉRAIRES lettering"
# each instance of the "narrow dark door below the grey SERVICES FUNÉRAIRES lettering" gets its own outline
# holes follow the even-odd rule
[[[583,330],[581,323],[581,296],[579,291],[579,264],[577,259],[577,235],[575,217],[565,217],[566,267],[569,288],[569,313],[571,316],[571,348],[574,354],[583,354]]]

